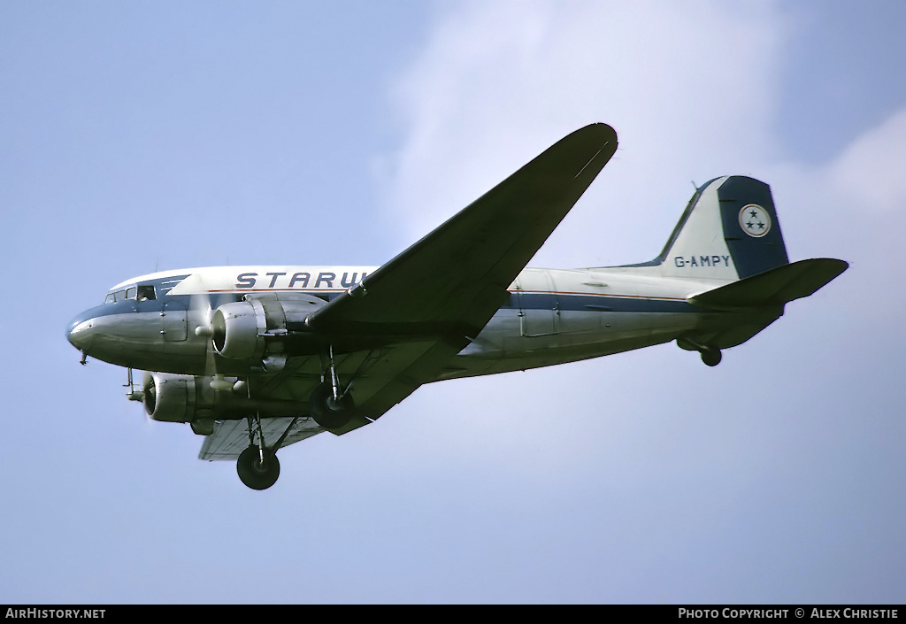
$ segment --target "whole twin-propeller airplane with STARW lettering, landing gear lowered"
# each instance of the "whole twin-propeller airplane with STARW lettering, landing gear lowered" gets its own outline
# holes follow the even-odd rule
[[[83,364],[127,368],[150,418],[204,436],[200,459],[264,490],[278,450],[371,424],[423,384],[670,341],[717,366],[848,268],[790,262],[770,188],[744,176],[695,190],[649,262],[525,268],[616,149],[603,123],[569,134],[381,267],[152,273],[66,336]]]

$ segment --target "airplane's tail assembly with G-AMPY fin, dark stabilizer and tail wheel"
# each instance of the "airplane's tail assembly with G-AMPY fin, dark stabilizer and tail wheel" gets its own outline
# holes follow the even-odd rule
[[[834,258],[790,264],[770,187],[744,176],[716,178],[696,190],[651,264],[666,277],[728,282],[687,300],[734,315],[677,338],[708,366],[720,362],[720,349],[746,342],[779,318],[788,302],[812,295],[849,267]]]

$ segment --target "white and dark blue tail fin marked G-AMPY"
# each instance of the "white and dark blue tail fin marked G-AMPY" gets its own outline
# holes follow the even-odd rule
[[[788,264],[770,187],[745,176],[706,182],[656,262],[665,277],[728,281]]]

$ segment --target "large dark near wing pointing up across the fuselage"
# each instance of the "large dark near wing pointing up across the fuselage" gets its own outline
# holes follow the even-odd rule
[[[356,336],[392,345],[385,366],[353,382],[357,415],[334,433],[368,424],[437,378],[506,301],[616,148],[616,132],[603,123],[573,132],[306,318],[336,345]],[[362,386],[371,386],[364,395]]]

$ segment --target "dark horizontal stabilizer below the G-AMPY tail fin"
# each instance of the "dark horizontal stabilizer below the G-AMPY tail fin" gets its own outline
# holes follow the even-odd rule
[[[718,310],[783,306],[788,301],[812,295],[847,268],[849,264],[834,258],[799,260],[693,295],[689,303]]]

